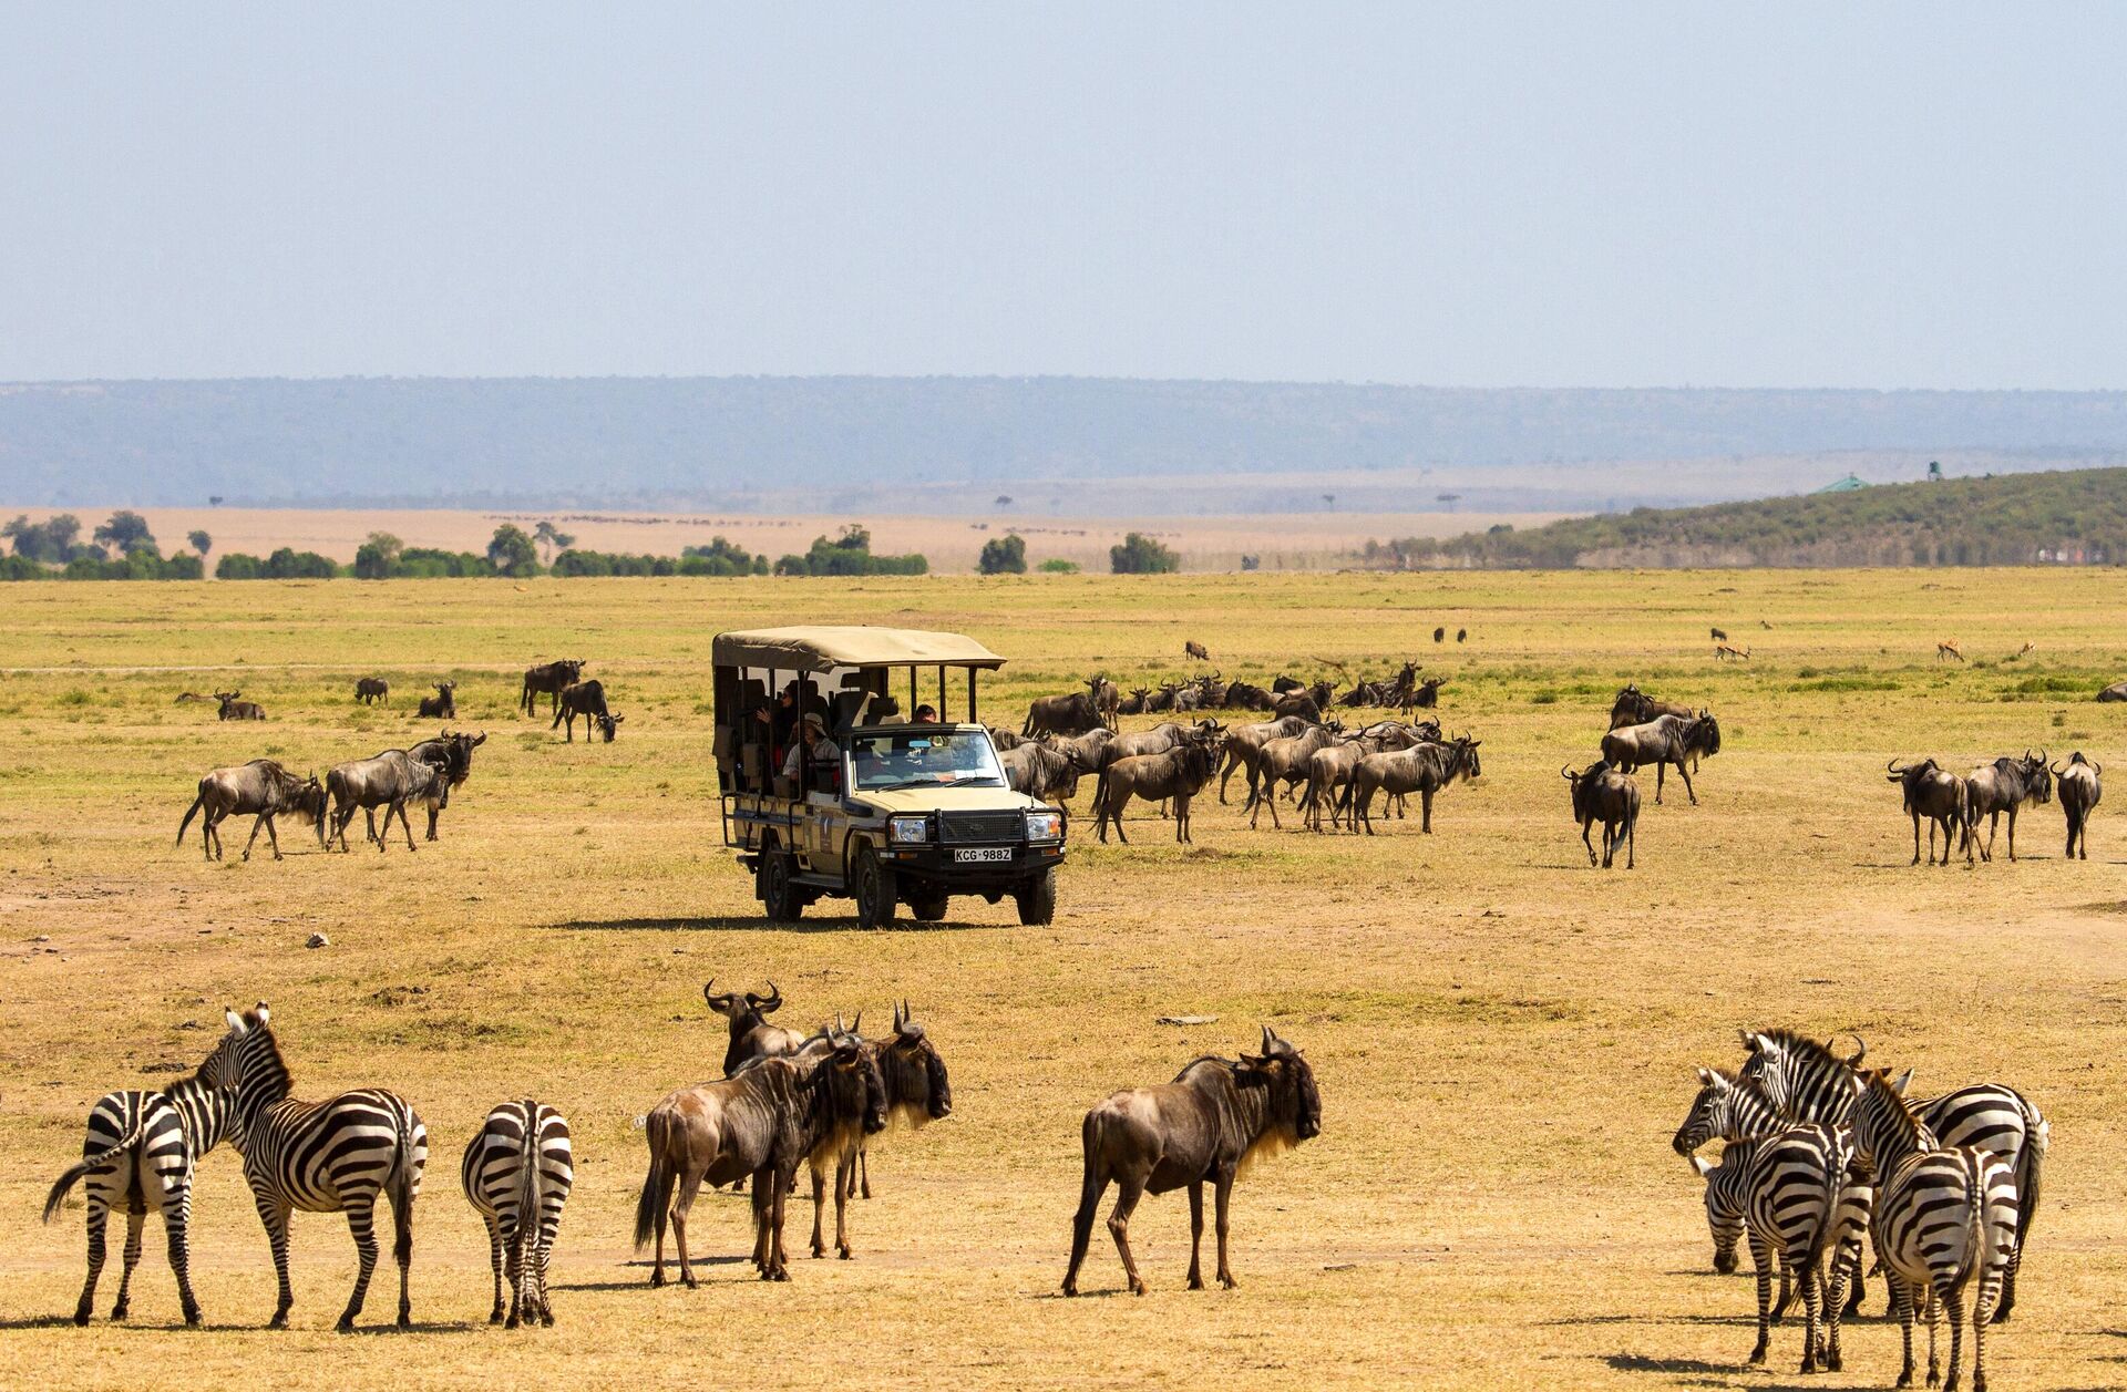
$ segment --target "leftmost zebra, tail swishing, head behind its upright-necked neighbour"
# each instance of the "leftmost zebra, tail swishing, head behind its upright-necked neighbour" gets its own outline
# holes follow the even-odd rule
[[[81,1143],[81,1160],[51,1186],[45,1196],[45,1222],[60,1216],[66,1192],[85,1182],[89,1209],[89,1277],[81,1284],[74,1324],[87,1324],[96,1305],[96,1277],[104,1269],[104,1222],[111,1209],[125,1209],[125,1264],[119,1275],[119,1298],[111,1318],[123,1320],[132,1271],[140,1262],[140,1224],[153,1199],[162,1207],[162,1228],[170,1239],[170,1271],[177,1273],[177,1298],[185,1324],[200,1322],[200,1303],[191,1294],[191,1173],[208,1150],[230,1131],[234,1094],[213,1088],[204,1069],[162,1092],[108,1092],[89,1109],[89,1135]]]

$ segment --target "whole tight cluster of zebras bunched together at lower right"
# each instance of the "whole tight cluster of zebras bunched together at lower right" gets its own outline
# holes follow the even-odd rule
[[[1863,1245],[1891,1288],[1904,1337],[1897,1386],[1912,1383],[1912,1324],[1927,1322],[1927,1383],[1957,1388],[1965,1301],[1972,1386],[1987,1386],[1987,1326],[2016,1307],[2050,1126],[2016,1088],[1974,1084],[1908,1101],[1912,1069],[1863,1069],[1793,1031],[1746,1031],[1738,1069],[1699,1069],[1699,1092],[1672,1145],[1706,1182],[1714,1269],[1751,1245],[1757,1345],[1793,1294],[1804,1309],[1802,1371],[1840,1369],[1840,1318],[1863,1298]],[[1859,1043],[1859,1041],[1857,1041]],[[1725,1141],[1719,1165],[1699,1158]],[[1772,1301],[1778,1273],[1780,1298]],[[1942,1377],[1936,1335],[1950,1324]]]

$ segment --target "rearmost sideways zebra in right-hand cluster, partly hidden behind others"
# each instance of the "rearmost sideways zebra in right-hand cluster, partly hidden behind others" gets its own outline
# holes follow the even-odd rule
[[[1848,1124],[1861,1092],[1857,1069],[1861,1052],[1868,1050],[1865,1043],[1850,1058],[1840,1058],[1814,1039],[1774,1029],[1746,1033],[1744,1048],[1751,1050],[1751,1058],[1742,1071],[1763,1084],[1765,1094],[1785,1118],[1827,1126]],[[1908,1071],[1906,1077],[1910,1080],[1912,1073]],[[2010,1250],[2008,1271],[2002,1277],[2002,1303],[1993,1311],[1995,1324],[2008,1324],[2010,1309],[2016,1305],[2023,1245],[2031,1233],[2031,1218],[2038,1213],[2053,1124],[2023,1092],[1993,1082],[1919,1101],[1912,1109],[1944,1148],[1978,1145],[1991,1150],[2008,1162],[2016,1177],[2016,1245]],[[1848,1313],[1859,1307],[1859,1288],[1853,1301]]]

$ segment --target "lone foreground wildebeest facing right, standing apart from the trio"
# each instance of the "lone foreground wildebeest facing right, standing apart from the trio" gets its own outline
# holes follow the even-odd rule
[[[1219,1230],[1219,1284],[1232,1290],[1225,1260],[1227,1201],[1234,1179],[1261,1158],[1321,1135],[1323,1099],[1314,1069],[1266,1024],[1263,1052],[1240,1058],[1204,1056],[1159,1088],[1115,1092],[1085,1114],[1085,1182],[1072,1218],[1070,1269],[1064,1294],[1078,1294],[1078,1267],[1093,1237],[1093,1209],[1108,1184],[1117,1186],[1108,1233],[1123,1256],[1129,1290],[1144,1294],[1144,1277],[1129,1254],[1129,1216],[1144,1194],[1189,1186],[1189,1290],[1204,1290],[1198,1250],[1204,1245],[1204,1182],[1212,1186]]]

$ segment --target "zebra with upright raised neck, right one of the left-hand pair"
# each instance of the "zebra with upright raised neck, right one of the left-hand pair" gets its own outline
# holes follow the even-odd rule
[[[270,1328],[287,1328],[296,1292],[287,1284],[289,1213],[347,1213],[359,1271],[355,1290],[340,1311],[340,1330],[355,1326],[362,1296],[376,1269],[376,1199],[391,1201],[400,1267],[400,1328],[413,1324],[406,1269],[413,1264],[413,1201],[421,1192],[428,1165],[428,1126],[404,1099],[379,1088],[340,1092],[321,1103],[289,1097],[289,1073],[268,1024],[266,1001],[238,1016],[223,1012],[230,1033],[206,1060],[202,1073],[217,1088],[236,1092],[234,1145],[245,1158],[245,1179],[259,1222],[272,1243],[272,1267],[281,1279],[281,1301]]]

